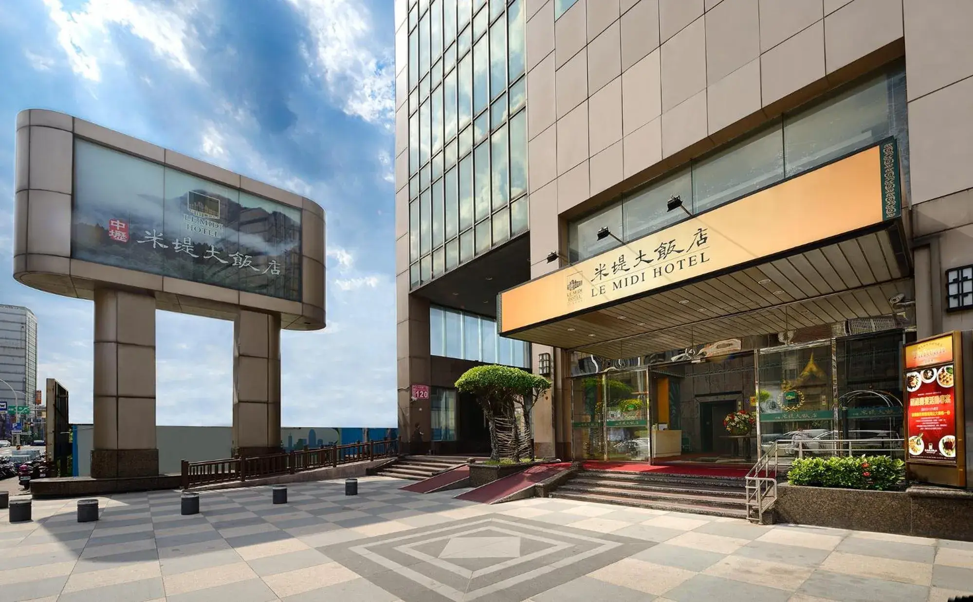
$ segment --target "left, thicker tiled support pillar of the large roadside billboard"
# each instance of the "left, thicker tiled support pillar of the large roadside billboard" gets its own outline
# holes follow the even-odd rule
[[[158,476],[156,298],[98,289],[91,477]]]

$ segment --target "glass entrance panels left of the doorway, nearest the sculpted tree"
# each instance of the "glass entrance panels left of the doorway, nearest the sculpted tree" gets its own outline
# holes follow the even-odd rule
[[[605,372],[573,379],[575,457],[649,459],[647,372]]]

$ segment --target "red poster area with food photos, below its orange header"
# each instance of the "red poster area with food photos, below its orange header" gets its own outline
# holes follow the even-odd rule
[[[906,372],[911,460],[955,464],[954,365]]]

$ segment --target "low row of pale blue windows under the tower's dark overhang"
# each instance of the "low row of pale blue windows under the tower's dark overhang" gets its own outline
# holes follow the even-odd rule
[[[496,321],[432,305],[429,353],[457,360],[530,368],[530,343],[496,334]]]

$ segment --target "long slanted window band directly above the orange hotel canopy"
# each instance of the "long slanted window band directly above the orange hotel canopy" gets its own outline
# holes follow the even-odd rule
[[[568,224],[568,259],[578,262],[619,243],[598,240],[608,228],[626,242],[686,219],[667,211],[679,196],[694,215],[894,136],[909,186],[906,81],[901,68],[785,114],[716,153]]]

